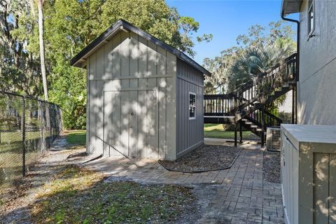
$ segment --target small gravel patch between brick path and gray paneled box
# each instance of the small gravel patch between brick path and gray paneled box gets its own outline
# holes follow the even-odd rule
[[[264,152],[262,174],[264,180],[280,183],[280,153]]]

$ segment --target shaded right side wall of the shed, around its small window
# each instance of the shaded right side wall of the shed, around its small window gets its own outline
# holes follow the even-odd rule
[[[177,60],[177,150],[178,155],[203,143],[203,73]],[[196,119],[189,120],[189,92],[196,94]]]

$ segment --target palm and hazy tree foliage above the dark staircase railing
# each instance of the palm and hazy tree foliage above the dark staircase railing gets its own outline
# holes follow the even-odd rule
[[[253,25],[247,34],[237,37],[237,46],[223,50],[214,59],[204,59],[204,66],[213,73],[205,80],[205,92],[211,88],[230,92],[281,62],[295,50],[293,35],[282,21],[271,22],[268,27]]]

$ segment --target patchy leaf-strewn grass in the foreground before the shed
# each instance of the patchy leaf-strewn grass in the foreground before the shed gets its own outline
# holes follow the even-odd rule
[[[174,223],[195,204],[191,188],[104,181],[74,165],[45,185],[31,208],[33,223]]]

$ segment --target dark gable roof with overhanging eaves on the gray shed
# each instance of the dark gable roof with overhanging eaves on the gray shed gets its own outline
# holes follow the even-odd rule
[[[85,62],[87,57],[90,57],[90,55],[92,55],[93,52],[98,50],[98,48],[100,48],[107,41],[109,41],[115,34],[118,33],[118,31],[120,31],[120,29],[124,31],[132,31],[135,34],[138,34],[139,36],[145,38],[146,40],[152,41],[156,45],[159,45],[161,48],[167,50],[168,52],[171,52],[173,55],[183,60],[187,64],[190,64],[190,66],[193,66],[195,69],[201,71],[207,76],[211,76],[210,71],[204,69],[204,67],[200,66],[200,64],[198,64],[193,59],[188,57],[185,53],[181,52],[180,50],[177,50],[176,48],[172,47],[171,45],[163,41],[160,41],[158,38],[152,36],[151,34],[146,33],[142,29],[134,27],[132,24],[130,24],[130,22],[127,22],[125,20],[118,20],[118,22],[109,27],[109,29],[106,29],[106,31],[100,34],[97,38],[94,39],[94,41],[92,41],[83,50],[81,50],[75,57],[73,57],[70,61],[70,64],[76,67],[83,67],[83,62]]]

